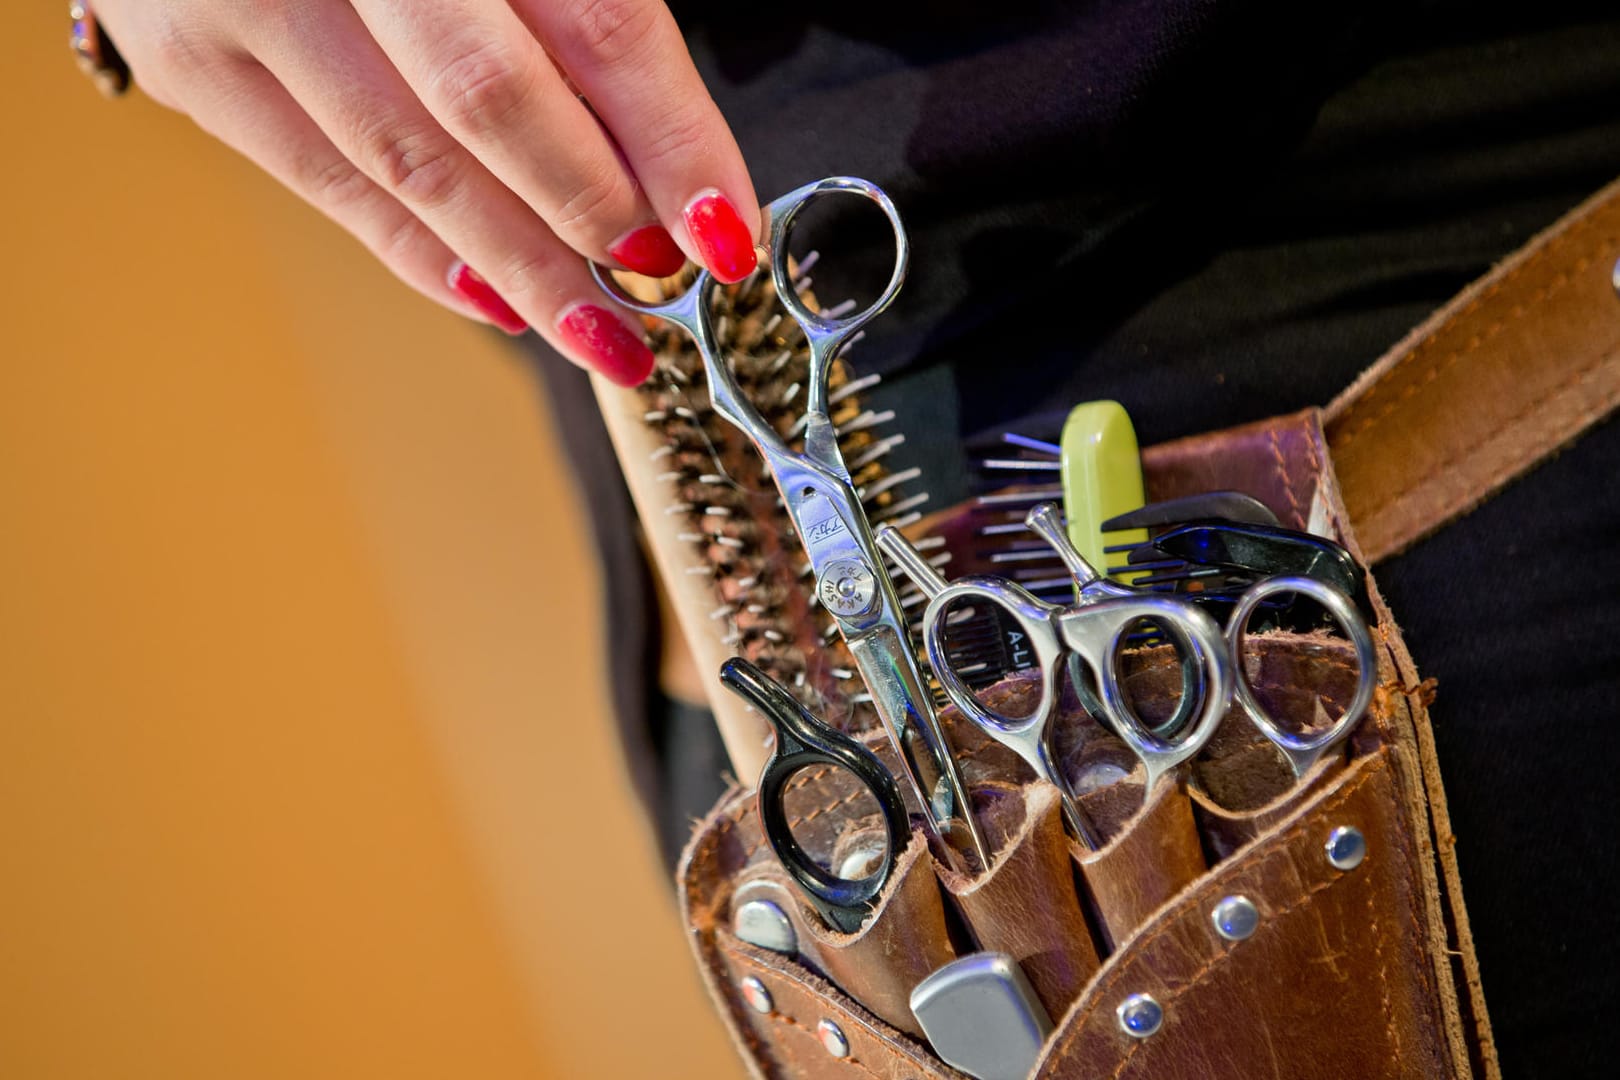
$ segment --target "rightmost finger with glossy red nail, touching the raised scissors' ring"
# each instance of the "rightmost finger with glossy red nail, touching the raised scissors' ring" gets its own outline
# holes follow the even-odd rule
[[[661,0],[512,0],[585,92],[682,248],[723,282],[753,270],[760,202],[737,141]]]

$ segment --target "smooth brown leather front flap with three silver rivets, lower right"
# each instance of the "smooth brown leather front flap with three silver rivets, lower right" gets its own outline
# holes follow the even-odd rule
[[[1453,1075],[1392,755],[1356,759],[1121,942],[1035,1075]],[[1351,868],[1328,858],[1335,829],[1364,842]],[[1223,902],[1252,905],[1247,936],[1221,936]],[[1126,1030],[1132,1004],[1157,1030]]]

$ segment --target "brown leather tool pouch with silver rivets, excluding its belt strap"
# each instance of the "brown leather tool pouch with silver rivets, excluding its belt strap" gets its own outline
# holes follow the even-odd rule
[[[1150,499],[1247,491],[1285,525],[1333,534],[1356,552],[1317,410],[1153,447],[1144,465]],[[995,870],[974,882],[938,874],[953,902],[930,904],[925,918],[901,920],[888,905],[880,908],[865,936],[881,931],[883,955],[860,962],[948,959],[944,915],[961,910],[980,944],[1024,965],[1056,1022],[1037,1077],[1482,1070],[1489,1033],[1466,916],[1455,874],[1437,857],[1450,837],[1427,691],[1375,589],[1372,604],[1379,690],[1348,761],[1332,758],[1296,785],[1264,745],[1223,729],[1223,755],[1179,787],[1160,784],[1147,806],[1137,810],[1140,785],[1129,779],[1092,795],[1087,810],[1108,837],[1095,853],[1071,850],[1048,787],[996,790],[990,774],[1029,774],[983,746],[972,725],[949,724],[948,714],[980,819],[995,823]],[[1273,708],[1307,709],[1317,693],[1348,687],[1353,661],[1324,649],[1320,640],[1256,641],[1251,678]],[[813,808],[846,798],[839,784],[836,774],[807,784],[820,787]],[[1103,805],[1105,793],[1121,806]],[[987,814],[990,801],[1003,806]],[[1346,870],[1328,858],[1336,829],[1356,829],[1364,839],[1359,865]],[[792,912],[799,941],[813,941],[813,949],[781,955],[731,933],[734,884],[770,874],[770,861],[752,793],[739,790],[698,827],[680,868],[682,905],[705,980],[757,1069],[773,1077],[957,1075],[914,1038],[906,993],[870,999],[850,984],[849,960],[829,955],[813,912],[786,886],[782,907]],[[902,863],[889,905],[919,887],[927,861]],[[1092,949],[1082,895],[1113,946],[1103,962]],[[1259,912],[1241,941],[1217,931],[1213,912],[1225,897],[1246,897]],[[907,978],[914,984],[927,970],[915,965]],[[758,1009],[765,997],[755,993],[750,1004],[744,994],[748,978],[763,984],[765,1010]],[[1163,1009],[1152,1036],[1136,1038],[1119,1023],[1116,1010],[1132,994],[1150,994]],[[844,1033],[847,1056],[823,1046],[823,1020]]]

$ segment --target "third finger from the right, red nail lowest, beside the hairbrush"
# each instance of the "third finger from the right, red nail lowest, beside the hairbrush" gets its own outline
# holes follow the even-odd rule
[[[301,18],[296,34],[253,47],[332,144],[562,355],[616,382],[645,379],[653,353],[640,327],[609,308],[585,261],[439,126],[353,8],[321,5]],[[463,275],[468,283],[476,282]]]

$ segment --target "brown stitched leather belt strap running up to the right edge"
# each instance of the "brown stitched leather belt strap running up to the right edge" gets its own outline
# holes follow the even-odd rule
[[[1369,562],[1468,513],[1620,403],[1620,181],[1469,285],[1324,418]]]

